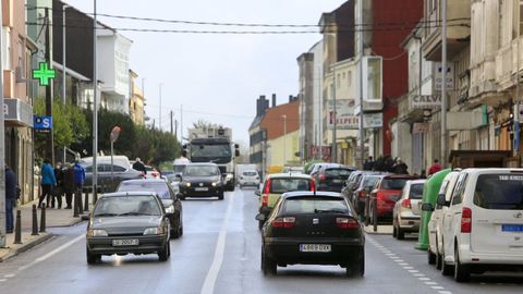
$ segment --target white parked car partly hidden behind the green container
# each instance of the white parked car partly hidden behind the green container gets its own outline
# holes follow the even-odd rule
[[[419,231],[423,187],[426,180],[406,181],[392,211],[392,236],[403,240],[405,233]]]

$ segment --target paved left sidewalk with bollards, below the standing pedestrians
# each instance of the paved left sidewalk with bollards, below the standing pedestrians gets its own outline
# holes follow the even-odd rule
[[[89,200],[90,197],[89,197]],[[0,262],[11,258],[20,253],[46,242],[52,237],[52,233],[38,233],[32,235],[33,232],[33,205],[38,205],[38,200],[17,206],[14,208],[14,218],[16,222],[16,210],[21,211],[22,217],[22,244],[14,244],[14,233],[7,235],[4,248],[0,248]],[[90,206],[89,206],[90,207]],[[40,230],[41,209],[37,209],[38,232]],[[71,226],[82,222],[81,218],[73,217],[73,209],[46,209],[46,229],[53,226]],[[47,230],[46,230],[47,231]]]

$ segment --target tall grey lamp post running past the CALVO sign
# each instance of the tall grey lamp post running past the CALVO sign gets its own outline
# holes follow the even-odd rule
[[[441,0],[441,163],[447,166],[447,0]]]

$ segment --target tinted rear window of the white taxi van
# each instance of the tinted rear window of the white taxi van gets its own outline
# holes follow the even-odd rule
[[[486,209],[523,209],[523,174],[482,174],[474,204]]]

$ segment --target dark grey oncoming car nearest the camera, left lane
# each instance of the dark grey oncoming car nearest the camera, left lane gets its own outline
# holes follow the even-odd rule
[[[86,235],[87,264],[102,255],[158,254],[169,259],[169,218],[161,200],[150,192],[104,194],[89,217]]]

